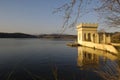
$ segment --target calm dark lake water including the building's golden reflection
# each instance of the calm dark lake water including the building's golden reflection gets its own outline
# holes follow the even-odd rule
[[[100,73],[117,73],[117,56],[67,42],[0,39],[0,80],[103,80]]]

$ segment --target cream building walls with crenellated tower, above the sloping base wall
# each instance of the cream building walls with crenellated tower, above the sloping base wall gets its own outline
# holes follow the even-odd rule
[[[93,43],[111,43],[110,34],[98,33],[98,24],[94,23],[81,23],[77,26],[78,43],[82,44],[84,41]]]

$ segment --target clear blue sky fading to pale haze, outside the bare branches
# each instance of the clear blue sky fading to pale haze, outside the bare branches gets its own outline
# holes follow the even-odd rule
[[[65,1],[69,0],[0,0],[0,32],[58,33],[63,18],[52,12]],[[97,18],[90,13],[84,21],[97,22]],[[65,33],[76,34],[76,30],[67,29]]]

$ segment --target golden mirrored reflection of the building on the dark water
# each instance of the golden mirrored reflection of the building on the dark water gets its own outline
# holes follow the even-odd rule
[[[78,47],[78,66],[83,67],[86,65],[99,65],[100,61],[106,62],[107,60],[115,61],[117,56],[98,49],[88,47]]]

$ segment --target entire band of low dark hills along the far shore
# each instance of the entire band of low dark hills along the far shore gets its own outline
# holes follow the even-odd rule
[[[40,34],[31,35],[25,33],[0,33],[0,38],[45,38],[45,39],[60,39],[60,40],[76,40],[76,35],[68,34]]]

